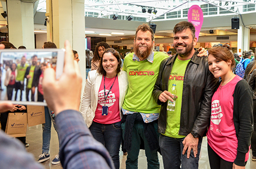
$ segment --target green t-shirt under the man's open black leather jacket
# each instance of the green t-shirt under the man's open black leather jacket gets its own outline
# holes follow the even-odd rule
[[[183,80],[186,71],[186,67],[189,60],[181,61],[176,58],[172,72],[169,76],[168,81],[168,91],[173,87],[173,83],[176,83],[177,90],[177,100],[174,111],[167,110],[167,120],[166,120],[166,130],[164,135],[174,138],[183,138],[184,135],[179,135],[180,130],[180,112],[181,112],[181,102],[182,102],[182,92],[183,92]]]

